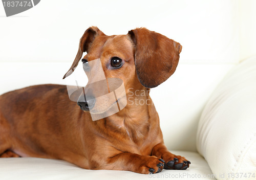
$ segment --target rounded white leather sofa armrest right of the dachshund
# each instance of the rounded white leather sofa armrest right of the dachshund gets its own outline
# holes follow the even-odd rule
[[[232,69],[211,95],[197,149],[219,179],[256,179],[256,57]]]

